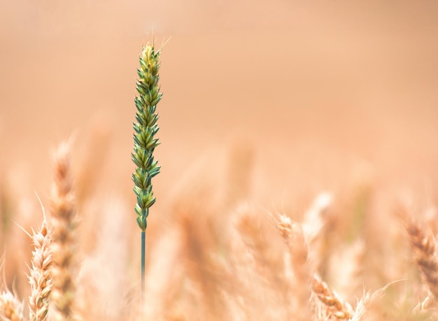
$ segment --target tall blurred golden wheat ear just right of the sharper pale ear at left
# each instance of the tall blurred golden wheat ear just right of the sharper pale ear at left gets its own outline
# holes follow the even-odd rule
[[[76,203],[70,165],[70,145],[62,143],[55,152],[55,177],[50,198],[52,218],[52,314],[54,320],[73,320],[75,305],[74,253]]]

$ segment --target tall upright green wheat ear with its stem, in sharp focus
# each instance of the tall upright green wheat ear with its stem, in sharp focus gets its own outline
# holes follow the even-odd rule
[[[134,152],[132,161],[136,170],[132,174],[134,192],[137,197],[135,211],[137,224],[141,229],[141,297],[144,297],[145,283],[145,252],[146,252],[146,227],[149,208],[155,203],[151,180],[160,173],[160,166],[153,157],[155,147],[159,145],[157,134],[158,115],[156,108],[161,100],[160,85],[160,50],[155,51],[154,45],[148,43],[140,55],[140,68],[137,69],[139,80],[136,90],[139,96],[135,98],[137,108],[136,122],[134,122]]]

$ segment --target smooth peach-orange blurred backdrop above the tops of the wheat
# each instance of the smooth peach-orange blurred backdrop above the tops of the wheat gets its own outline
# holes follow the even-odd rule
[[[357,180],[431,202],[437,15],[432,0],[1,1],[3,198],[20,195],[39,222],[34,191],[45,203],[51,151],[73,135],[80,197],[134,207],[136,68],[155,41],[165,45],[153,212],[230,184],[236,159],[250,169],[246,197],[264,208],[301,210]]]

